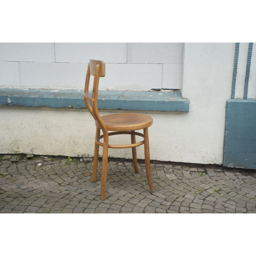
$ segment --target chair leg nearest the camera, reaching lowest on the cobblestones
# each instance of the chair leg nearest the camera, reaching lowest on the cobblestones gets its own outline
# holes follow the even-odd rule
[[[107,169],[108,169],[108,134],[104,136],[104,142],[103,142],[100,200],[105,200],[106,198]]]

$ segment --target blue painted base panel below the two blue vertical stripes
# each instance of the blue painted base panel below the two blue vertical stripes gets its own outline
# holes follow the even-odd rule
[[[223,165],[256,169],[256,100],[254,99],[227,101]]]

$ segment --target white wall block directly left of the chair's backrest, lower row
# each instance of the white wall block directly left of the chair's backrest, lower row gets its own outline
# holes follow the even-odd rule
[[[85,63],[20,62],[20,85],[38,89],[83,89]]]

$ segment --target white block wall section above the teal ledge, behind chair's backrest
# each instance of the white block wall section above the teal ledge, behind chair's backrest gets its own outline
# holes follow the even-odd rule
[[[181,89],[183,43],[0,43],[0,87],[83,90],[90,59],[100,90]]]

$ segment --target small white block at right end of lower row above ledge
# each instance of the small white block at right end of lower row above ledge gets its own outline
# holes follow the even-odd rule
[[[163,88],[181,89],[183,64],[163,64]]]

